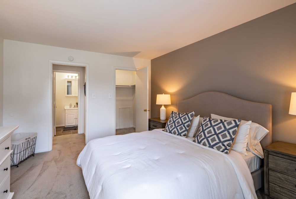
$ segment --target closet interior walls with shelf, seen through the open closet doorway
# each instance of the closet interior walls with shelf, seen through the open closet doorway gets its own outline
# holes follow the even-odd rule
[[[135,127],[136,72],[116,70],[116,129]]]

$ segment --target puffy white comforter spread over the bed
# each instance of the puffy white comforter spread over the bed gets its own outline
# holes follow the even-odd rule
[[[237,152],[226,155],[159,130],[92,140],[77,165],[90,198],[257,198]]]

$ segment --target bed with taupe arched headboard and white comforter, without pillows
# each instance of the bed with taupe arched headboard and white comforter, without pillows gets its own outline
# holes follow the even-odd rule
[[[271,143],[269,104],[205,92],[178,102],[178,112],[192,110],[200,118],[215,114],[257,123],[267,131],[258,144]],[[90,198],[257,198],[261,159],[250,152],[221,153],[193,139],[162,129],[98,138],[87,143],[77,165]]]

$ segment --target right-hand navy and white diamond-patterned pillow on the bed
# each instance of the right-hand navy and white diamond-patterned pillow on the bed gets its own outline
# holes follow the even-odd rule
[[[228,154],[240,122],[241,120],[220,120],[204,117],[193,141]]]

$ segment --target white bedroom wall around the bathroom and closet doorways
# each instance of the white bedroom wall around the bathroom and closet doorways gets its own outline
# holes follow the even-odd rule
[[[4,40],[3,124],[37,132],[36,153],[49,151],[49,60],[89,64],[89,140],[114,134],[113,66],[144,68],[150,60]],[[92,98],[92,93],[96,98]]]

